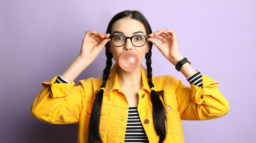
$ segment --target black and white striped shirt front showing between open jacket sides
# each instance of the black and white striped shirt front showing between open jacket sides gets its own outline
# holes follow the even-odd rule
[[[124,142],[148,143],[148,137],[139,119],[137,107],[129,107]]]

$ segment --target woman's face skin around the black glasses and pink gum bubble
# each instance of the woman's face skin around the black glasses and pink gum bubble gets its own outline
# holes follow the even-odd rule
[[[130,18],[123,18],[117,20],[111,29],[110,35],[123,35],[126,37],[132,37],[134,35],[145,35],[147,36],[146,29],[144,25],[139,22],[138,20],[130,19]],[[113,39],[114,40],[114,39]],[[130,39],[127,39],[126,43],[121,46],[117,47],[109,42],[108,49],[110,53],[113,54],[113,58],[116,61],[117,65],[119,66],[119,57],[122,53],[126,51],[135,52],[139,56],[139,64],[145,58],[145,54],[149,51],[149,44],[148,42],[141,47],[136,47],[132,44]]]

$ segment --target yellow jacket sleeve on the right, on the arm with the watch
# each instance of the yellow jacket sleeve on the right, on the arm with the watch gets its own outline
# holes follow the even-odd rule
[[[175,80],[178,111],[183,120],[208,120],[226,115],[229,103],[217,88],[218,83],[203,75],[203,88],[190,84],[187,87]]]

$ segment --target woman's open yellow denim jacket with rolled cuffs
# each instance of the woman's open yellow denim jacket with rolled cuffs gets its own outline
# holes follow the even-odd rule
[[[141,66],[142,88],[138,91],[139,118],[150,143],[157,143],[153,124],[152,103],[147,72]],[[167,114],[165,143],[183,143],[183,120],[208,120],[222,117],[229,103],[217,89],[218,83],[203,75],[203,88],[190,84],[187,87],[170,75],[152,77],[155,90],[164,90]],[[99,134],[104,143],[123,143],[128,119],[128,101],[117,81],[117,65],[111,69],[103,94]],[[32,104],[31,114],[43,122],[54,124],[79,123],[78,142],[88,142],[88,124],[96,90],[102,78],[89,78],[71,84],[55,84],[57,76],[43,82],[44,89]],[[144,96],[142,96],[145,94]],[[202,97],[203,96],[203,97]],[[145,119],[149,123],[144,123]]]

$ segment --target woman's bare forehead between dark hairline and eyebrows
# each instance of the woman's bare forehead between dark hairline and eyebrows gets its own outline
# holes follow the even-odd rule
[[[117,20],[113,24],[110,34],[112,35],[115,31],[123,32],[125,34],[124,36],[131,36],[134,32],[137,31],[142,31],[144,35],[147,35],[144,25],[138,20],[130,18]]]

